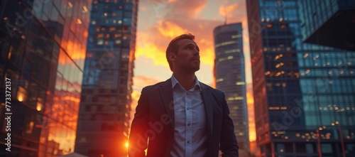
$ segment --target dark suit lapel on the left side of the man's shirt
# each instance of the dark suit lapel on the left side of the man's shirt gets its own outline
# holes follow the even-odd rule
[[[175,114],[174,114],[174,101],[173,101],[173,88],[171,79],[166,80],[159,87],[160,98],[163,101],[166,113],[169,115],[171,124],[175,126]]]

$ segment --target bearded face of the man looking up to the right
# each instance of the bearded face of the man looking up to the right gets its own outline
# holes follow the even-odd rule
[[[178,54],[174,54],[173,66],[186,72],[196,72],[200,70],[200,48],[195,41],[190,39],[179,40]]]

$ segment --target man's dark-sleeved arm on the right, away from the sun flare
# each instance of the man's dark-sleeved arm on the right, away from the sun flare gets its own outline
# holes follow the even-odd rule
[[[222,157],[238,157],[239,146],[236,142],[236,135],[234,134],[234,124],[229,117],[229,107],[226,103],[226,97],[223,95],[223,117],[222,117],[222,131],[221,142],[219,149],[222,151]]]

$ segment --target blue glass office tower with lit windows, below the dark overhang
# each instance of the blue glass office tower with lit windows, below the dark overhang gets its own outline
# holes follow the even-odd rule
[[[258,156],[351,156],[355,53],[302,43],[298,2],[246,1]]]

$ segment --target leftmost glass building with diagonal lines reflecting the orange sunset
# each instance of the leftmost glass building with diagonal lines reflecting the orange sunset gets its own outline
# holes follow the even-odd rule
[[[0,156],[74,151],[89,2],[1,1]]]

